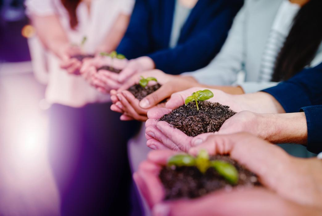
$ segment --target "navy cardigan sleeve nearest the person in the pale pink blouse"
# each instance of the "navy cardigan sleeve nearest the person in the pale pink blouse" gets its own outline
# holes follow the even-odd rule
[[[128,29],[116,51],[127,59],[137,58],[150,52],[149,17],[147,0],[136,0]]]

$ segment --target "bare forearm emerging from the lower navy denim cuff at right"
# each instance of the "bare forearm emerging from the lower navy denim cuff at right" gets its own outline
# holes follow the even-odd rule
[[[272,143],[306,144],[308,128],[304,113],[260,114],[259,136]]]

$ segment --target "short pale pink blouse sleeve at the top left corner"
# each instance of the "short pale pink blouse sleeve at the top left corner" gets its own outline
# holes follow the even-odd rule
[[[50,16],[55,15],[56,10],[52,0],[26,0],[27,15]]]

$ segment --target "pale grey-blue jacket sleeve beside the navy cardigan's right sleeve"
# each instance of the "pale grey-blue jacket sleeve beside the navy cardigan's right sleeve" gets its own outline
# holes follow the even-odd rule
[[[206,67],[183,75],[193,76],[198,82],[208,85],[232,85],[237,80],[243,61],[245,4],[236,15],[226,42],[217,56]]]

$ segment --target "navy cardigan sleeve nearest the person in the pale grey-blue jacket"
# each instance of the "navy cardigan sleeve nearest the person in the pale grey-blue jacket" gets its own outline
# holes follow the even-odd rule
[[[226,0],[224,0],[226,1]],[[233,2],[233,3],[232,3]],[[181,74],[205,67],[217,54],[243,1],[222,4],[218,15],[208,27],[175,48],[167,48],[148,56],[156,68],[169,74]]]

